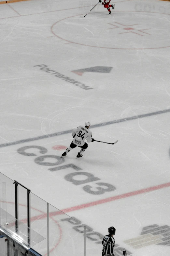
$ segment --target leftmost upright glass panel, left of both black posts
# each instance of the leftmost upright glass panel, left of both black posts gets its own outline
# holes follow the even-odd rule
[[[0,173],[0,183],[6,183],[6,191],[2,191],[1,198],[6,200],[6,211],[12,216],[15,216],[15,184],[13,180],[9,179],[4,174]],[[4,185],[2,185],[4,188]],[[5,199],[6,197],[6,199]],[[3,209],[5,210],[4,206]]]

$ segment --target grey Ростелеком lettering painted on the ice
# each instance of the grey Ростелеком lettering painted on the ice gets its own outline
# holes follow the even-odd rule
[[[70,77],[66,77],[65,75],[60,74],[59,72],[55,72],[54,70],[51,70],[47,67],[47,65],[41,64],[41,65],[35,65],[34,67],[40,67],[41,70],[49,73],[50,75],[54,75],[55,77],[61,78],[62,80],[65,80],[68,83],[74,84],[84,90],[90,90],[93,89],[92,87],[89,87],[88,85],[82,84],[75,79],[72,79]]]

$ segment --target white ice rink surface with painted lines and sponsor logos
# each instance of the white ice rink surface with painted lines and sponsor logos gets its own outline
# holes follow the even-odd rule
[[[114,226],[128,255],[169,256],[170,2],[112,0],[112,15],[98,4],[84,18],[96,4],[0,5],[0,172],[96,234]],[[119,142],[60,158],[85,121],[95,140]],[[38,202],[34,210],[43,213]],[[69,255],[83,255],[73,226],[81,242]],[[101,236],[87,239],[87,256],[102,255]],[[50,256],[68,255],[51,241]]]

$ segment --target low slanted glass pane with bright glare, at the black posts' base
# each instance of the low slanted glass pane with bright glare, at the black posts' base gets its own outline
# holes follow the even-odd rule
[[[2,210],[2,212],[5,211]],[[9,215],[10,214],[8,214],[8,219],[11,219],[11,221],[5,223],[4,226],[1,226],[0,230],[21,246],[28,249],[45,239],[34,230],[28,228],[23,222],[18,221],[13,216]],[[29,236],[29,234],[31,234],[31,236]]]

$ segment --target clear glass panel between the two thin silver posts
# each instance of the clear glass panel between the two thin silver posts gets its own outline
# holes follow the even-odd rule
[[[49,205],[50,256],[83,256],[84,226],[73,217]]]

